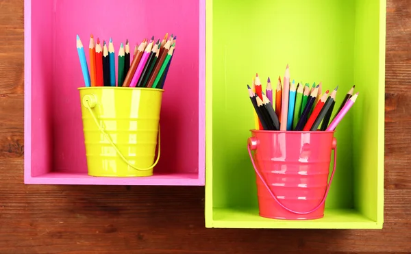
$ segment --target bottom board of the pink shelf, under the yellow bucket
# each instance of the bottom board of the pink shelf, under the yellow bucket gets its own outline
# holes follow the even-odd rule
[[[28,184],[202,186],[198,173],[154,173],[151,177],[92,177],[87,173],[53,172],[26,177]]]

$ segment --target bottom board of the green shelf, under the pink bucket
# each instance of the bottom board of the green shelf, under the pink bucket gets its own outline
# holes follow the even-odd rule
[[[213,208],[212,222],[206,227],[251,229],[382,229],[355,209],[325,209],[316,220],[274,220],[258,215],[258,208]]]

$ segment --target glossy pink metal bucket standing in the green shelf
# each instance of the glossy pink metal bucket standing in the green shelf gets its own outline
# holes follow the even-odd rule
[[[260,216],[284,220],[323,218],[336,170],[334,131],[252,129],[251,134],[247,147],[257,175]],[[332,150],[334,167],[328,182]]]

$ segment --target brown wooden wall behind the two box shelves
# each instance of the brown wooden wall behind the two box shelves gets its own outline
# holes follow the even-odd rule
[[[206,229],[203,187],[25,186],[23,40],[0,0],[0,254],[411,253],[411,0],[387,3],[382,230]]]

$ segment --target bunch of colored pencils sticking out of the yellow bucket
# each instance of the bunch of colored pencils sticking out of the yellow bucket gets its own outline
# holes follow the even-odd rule
[[[84,83],[87,87],[127,86],[162,89],[173,59],[176,39],[177,36],[173,36],[173,34],[170,37],[169,34],[166,34],[161,42],[160,39],[155,42],[154,36],[149,41],[145,38],[140,45],[136,45],[131,62],[129,41],[128,39],[125,41],[125,46],[121,42],[116,79],[116,60],[112,39],[110,38],[108,45],[103,40],[103,45],[101,45],[99,38],[95,43],[93,35],[90,36],[89,72],[84,47],[77,35],[77,53]]]

